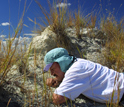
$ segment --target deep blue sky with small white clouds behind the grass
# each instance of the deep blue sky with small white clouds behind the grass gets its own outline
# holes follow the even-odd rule
[[[47,0],[38,0],[42,6],[49,11]],[[53,0],[49,0],[52,4]],[[25,5],[26,3],[26,5]],[[35,0],[0,0],[0,39],[5,40],[8,35],[13,35],[19,19],[21,18],[24,10],[24,26],[21,33],[21,39],[29,39],[33,36],[32,30],[35,28],[35,24],[29,19],[36,20],[37,18],[44,17],[40,11],[39,6]],[[84,14],[91,13],[93,10],[106,14],[112,12],[117,20],[120,20],[124,16],[124,0],[61,0],[61,3],[56,4],[54,7],[68,7],[69,10],[80,10]]]

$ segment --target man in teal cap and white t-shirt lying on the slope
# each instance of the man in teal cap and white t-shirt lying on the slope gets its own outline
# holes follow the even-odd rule
[[[44,58],[44,72],[50,69],[55,78],[46,84],[56,87],[53,103],[58,105],[80,94],[101,103],[120,101],[124,93],[124,74],[89,60],[70,56],[66,49],[55,48]]]

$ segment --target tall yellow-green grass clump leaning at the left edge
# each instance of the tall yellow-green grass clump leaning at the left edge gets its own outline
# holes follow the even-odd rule
[[[12,39],[9,37],[9,39],[6,41],[6,46],[1,45],[1,47],[3,47],[3,50],[1,50],[3,57],[1,58],[1,64],[0,64],[0,68],[1,68],[0,74],[2,75],[0,78],[0,85],[2,85],[4,78],[6,77],[12,65],[15,64],[16,61],[19,59],[15,55],[15,52],[18,46],[18,41],[16,42],[15,47],[13,47],[13,43],[15,38],[16,37],[19,38],[20,36],[20,32],[22,30],[22,24],[23,24],[22,22],[23,22],[23,17],[18,23],[18,26],[15,30],[14,37]]]

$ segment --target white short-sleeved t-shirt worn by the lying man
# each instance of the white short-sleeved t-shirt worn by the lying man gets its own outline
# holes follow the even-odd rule
[[[120,89],[120,92],[118,91]],[[56,94],[74,100],[81,93],[86,97],[101,103],[121,99],[124,93],[124,74],[85,59],[77,59],[66,71],[65,77]]]

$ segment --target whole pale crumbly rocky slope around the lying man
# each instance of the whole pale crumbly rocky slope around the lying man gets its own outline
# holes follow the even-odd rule
[[[105,63],[105,35],[97,29],[81,29],[81,39],[78,39],[75,33],[75,28],[67,28],[65,30],[67,38],[65,41],[70,43],[66,47],[69,53],[76,57],[82,57],[94,62]],[[2,86],[2,92],[9,92],[5,97],[5,102],[9,98],[12,102],[18,102],[20,106],[29,105],[32,107],[54,107],[51,100],[51,93],[54,88],[47,87],[45,80],[50,76],[48,73],[43,73],[44,55],[51,49],[58,47],[57,34],[52,32],[50,27],[47,27],[39,36],[32,39],[28,48],[28,60],[20,60],[8,72],[6,81]],[[102,38],[102,39],[101,39]],[[63,47],[61,44],[59,46]],[[27,58],[27,57],[26,57]],[[3,91],[4,89],[4,91]],[[2,94],[0,94],[2,101]],[[80,95],[75,101],[68,102],[68,107],[106,107],[106,104],[94,102],[83,95]],[[62,107],[67,107],[67,104],[62,104]]]

